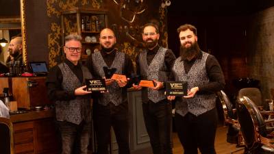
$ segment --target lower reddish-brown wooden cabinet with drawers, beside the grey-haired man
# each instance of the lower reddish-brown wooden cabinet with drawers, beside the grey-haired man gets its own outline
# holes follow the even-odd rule
[[[60,153],[61,144],[53,118],[21,121],[13,123],[13,127],[15,154]]]

